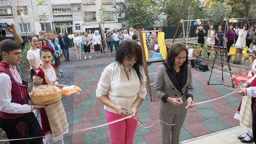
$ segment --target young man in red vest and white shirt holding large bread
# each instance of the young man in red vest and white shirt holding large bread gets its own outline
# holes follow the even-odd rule
[[[44,106],[29,105],[27,82],[20,77],[15,65],[20,63],[21,46],[14,40],[0,42],[0,127],[8,139],[32,138],[42,136],[42,129],[33,109]],[[10,141],[11,144],[41,144],[42,138]]]

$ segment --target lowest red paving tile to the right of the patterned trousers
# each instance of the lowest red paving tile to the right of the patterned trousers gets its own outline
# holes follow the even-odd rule
[[[194,137],[212,133],[212,130],[205,127],[204,124],[202,124],[201,122],[186,124],[183,127]]]

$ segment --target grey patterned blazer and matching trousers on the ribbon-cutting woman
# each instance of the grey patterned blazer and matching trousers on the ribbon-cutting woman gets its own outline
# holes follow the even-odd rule
[[[194,88],[192,86],[191,66],[187,70],[166,69],[166,66],[157,67],[157,74],[154,81],[154,94],[159,98],[160,120],[169,126],[161,123],[162,144],[179,144],[180,129],[185,121],[187,98],[193,98]],[[175,106],[167,102],[167,98],[182,98],[183,104]],[[171,140],[172,135],[172,140]]]

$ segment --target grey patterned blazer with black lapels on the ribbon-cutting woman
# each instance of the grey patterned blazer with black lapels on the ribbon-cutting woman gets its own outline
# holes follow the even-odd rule
[[[154,81],[154,94],[161,101],[159,102],[160,112],[177,114],[186,111],[187,98],[193,98],[194,88],[192,85],[191,66],[188,65],[187,71],[182,71],[182,82],[175,77],[173,71],[166,69],[164,65],[157,67],[157,74]],[[183,104],[175,106],[167,102],[167,98],[182,98]]]

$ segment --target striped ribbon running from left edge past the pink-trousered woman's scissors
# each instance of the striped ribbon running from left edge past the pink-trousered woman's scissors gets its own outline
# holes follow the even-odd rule
[[[97,127],[103,127],[103,126],[106,126],[106,125],[109,125],[109,124],[113,124],[113,123],[116,123],[116,122],[125,120],[125,119],[127,119],[127,118],[134,118],[134,119],[136,119],[136,120],[138,121],[138,123],[139,123],[140,125],[142,125],[143,127],[145,127],[145,128],[152,127],[156,122],[160,121],[160,120],[154,121],[154,123],[153,123],[151,126],[148,126],[148,127],[147,127],[147,126],[145,126],[138,118],[136,118],[135,116],[133,116],[133,115],[127,115],[127,116],[125,116],[125,117],[123,117],[123,118],[119,118],[119,119],[116,119],[116,120],[114,120],[114,121],[110,121],[110,122],[108,122],[108,123],[100,124],[100,125],[98,125],[98,126],[90,127],[90,128],[83,129],[83,130],[90,130],[90,129],[94,129],[94,128],[97,128]],[[166,124],[166,123],[163,122],[163,121],[160,121],[160,122]],[[167,125],[175,125],[175,124],[167,124]],[[75,131],[72,131],[72,132],[79,132],[79,131],[83,131],[83,130],[75,130]],[[71,133],[71,132],[67,132],[67,133]],[[54,134],[54,135],[61,135],[61,134],[62,134],[62,133],[58,133],[58,134]],[[47,137],[47,136],[52,136],[52,135],[45,135],[45,136],[39,136],[39,137],[33,137],[33,138],[41,138],[41,137]],[[17,140],[25,140],[25,139],[32,139],[32,138],[1,139],[0,141],[17,141]]]

